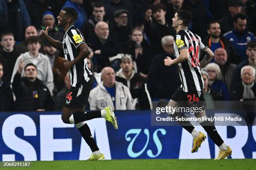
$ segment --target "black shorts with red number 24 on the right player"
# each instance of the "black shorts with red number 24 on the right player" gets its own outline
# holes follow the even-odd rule
[[[179,87],[172,95],[172,100],[182,107],[202,107],[202,110],[206,108],[203,92],[184,92],[182,88]]]

